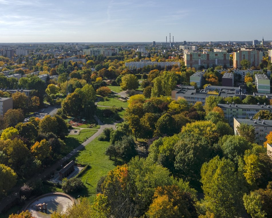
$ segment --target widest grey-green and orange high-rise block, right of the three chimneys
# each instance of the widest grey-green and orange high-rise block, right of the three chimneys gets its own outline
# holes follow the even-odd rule
[[[189,52],[184,54],[184,63],[186,67],[199,69],[204,66],[205,69],[217,65],[223,68],[230,67],[230,54],[225,52]]]

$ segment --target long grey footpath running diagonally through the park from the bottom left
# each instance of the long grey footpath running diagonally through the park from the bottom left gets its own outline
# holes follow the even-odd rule
[[[94,117],[95,120],[98,122],[98,118]],[[123,119],[119,120],[117,123],[119,122],[123,122]],[[60,159],[59,161],[57,161],[55,164],[53,164],[52,166],[46,168],[44,170],[44,172],[42,172],[41,174],[38,174],[37,176],[32,177],[31,179],[29,179],[27,182],[32,182],[34,180],[37,179],[44,179],[47,178],[48,176],[50,176],[50,174],[52,173],[52,171],[55,171],[57,168],[59,168],[61,165],[63,165],[63,163],[70,159],[71,157],[73,157],[74,155],[76,155],[78,153],[78,151],[82,150],[86,145],[88,145],[92,140],[94,140],[98,135],[100,135],[103,130],[105,128],[110,128],[112,127],[113,129],[115,129],[115,126],[117,123],[113,123],[113,124],[104,124],[99,120],[99,124],[100,124],[100,129],[98,129],[98,131],[96,133],[94,133],[94,135],[92,135],[90,138],[88,138],[86,141],[84,141],[82,144],[80,144],[78,147],[76,147],[74,150],[72,150],[69,154],[67,154],[65,157],[63,157],[62,159]],[[0,213],[2,212],[2,210],[9,205],[10,203],[12,203],[16,198],[19,198],[19,190],[20,190],[21,186],[15,186],[11,189],[11,193],[2,199],[2,201],[0,202]]]

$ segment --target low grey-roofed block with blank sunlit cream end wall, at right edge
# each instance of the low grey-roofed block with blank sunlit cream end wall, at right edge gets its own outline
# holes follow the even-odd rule
[[[266,141],[265,137],[272,131],[272,120],[261,120],[258,119],[237,119],[233,118],[234,123],[234,134],[239,135],[237,131],[237,127],[240,126],[241,123],[246,123],[248,125],[254,126],[255,129],[255,143],[258,145],[263,145],[263,142]]]

